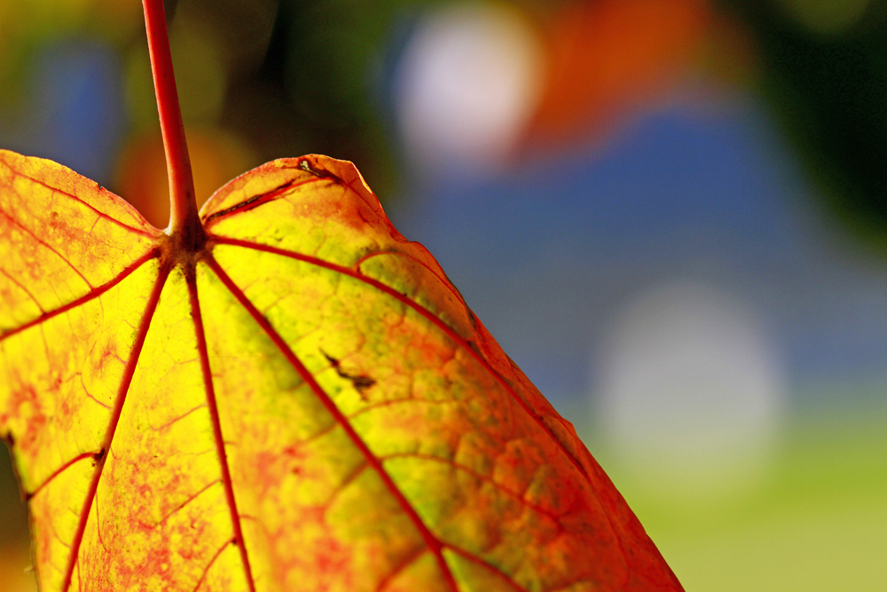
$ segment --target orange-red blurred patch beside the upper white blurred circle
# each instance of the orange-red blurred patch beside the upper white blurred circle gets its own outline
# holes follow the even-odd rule
[[[677,82],[711,20],[705,0],[565,5],[546,27],[548,77],[526,139],[545,145],[606,132]]]

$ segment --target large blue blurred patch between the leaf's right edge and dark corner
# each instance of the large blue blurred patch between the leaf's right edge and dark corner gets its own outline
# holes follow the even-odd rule
[[[883,262],[820,217],[765,108],[692,107],[648,114],[606,150],[413,190],[390,215],[558,407],[587,396],[620,304],[675,279],[757,307],[799,403],[812,384],[883,379]]]

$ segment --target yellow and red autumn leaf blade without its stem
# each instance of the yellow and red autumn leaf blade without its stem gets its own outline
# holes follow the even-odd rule
[[[349,162],[234,179],[197,252],[0,153],[0,434],[43,591],[680,590]]]

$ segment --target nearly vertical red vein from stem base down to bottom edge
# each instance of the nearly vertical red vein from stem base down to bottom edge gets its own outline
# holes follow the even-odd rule
[[[207,351],[207,336],[203,332],[203,318],[200,316],[200,299],[197,297],[197,282],[194,278],[193,268],[185,274],[188,284],[188,296],[191,299],[191,317],[194,321],[194,332],[197,335],[197,351],[200,354],[200,369],[203,372],[203,385],[207,391],[207,406],[209,418],[213,424],[213,437],[216,439],[216,453],[219,457],[219,465],[222,468],[222,484],[224,485],[225,499],[228,501],[228,509],[231,511],[232,528],[234,529],[234,541],[240,549],[240,560],[243,569],[247,573],[247,584],[250,592],[255,592],[253,571],[249,565],[247,545],[243,540],[243,530],[240,528],[240,517],[237,511],[237,501],[234,499],[234,485],[231,479],[231,470],[228,468],[228,455],[225,453],[224,438],[222,437],[222,422],[219,421],[219,409],[216,404],[216,390],[213,386],[213,375],[209,368],[209,352]]]

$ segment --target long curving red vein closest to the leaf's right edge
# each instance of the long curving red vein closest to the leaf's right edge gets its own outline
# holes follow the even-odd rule
[[[400,301],[403,304],[406,304],[415,312],[420,313],[423,317],[430,320],[432,324],[434,324],[437,328],[443,331],[447,336],[449,336],[454,342],[458,343],[459,346],[462,347],[469,355],[471,355],[478,363],[480,363],[494,378],[496,378],[497,382],[502,385],[502,387],[508,392],[509,395],[517,402],[518,405],[522,407],[522,409],[530,415],[530,417],[538,423],[539,427],[546,431],[546,433],[552,438],[553,442],[561,448],[561,451],[567,455],[570,462],[576,467],[576,469],[583,475],[585,478],[591,482],[591,476],[585,471],[585,467],[582,466],[582,463],[578,461],[576,456],[574,456],[566,446],[564,446],[558,438],[554,437],[554,434],[546,423],[542,420],[542,418],[536,414],[533,409],[524,401],[518,394],[517,391],[514,391],[514,388],[509,384],[505,377],[500,375],[498,371],[491,366],[490,362],[487,361],[483,355],[476,351],[471,345],[467,342],[467,340],[456,333],[449,325],[440,320],[434,312],[429,311],[427,308],[418,304],[411,298],[404,296],[396,289],[391,288],[390,286],[383,284],[379,280],[375,280],[369,276],[364,275],[361,272],[357,272],[353,269],[349,269],[343,265],[330,263],[328,261],[324,261],[323,259],[319,259],[318,257],[311,257],[310,255],[302,255],[302,253],[294,253],[293,251],[287,251],[285,249],[278,249],[277,247],[271,247],[270,245],[263,245],[262,243],[252,242],[252,241],[243,241],[240,239],[231,239],[222,236],[213,236],[213,241],[216,241],[218,244],[226,244],[232,245],[235,247],[243,247],[245,249],[254,249],[258,251],[265,251],[267,253],[272,253],[275,255],[280,255],[282,257],[289,257],[291,259],[296,259],[298,261],[302,261],[307,264],[317,265],[318,267],[323,267],[333,272],[339,272],[344,275],[348,275],[355,280],[362,281],[365,284],[372,286],[373,288],[377,288],[382,292],[385,292],[389,296],[396,298],[396,300]]]

